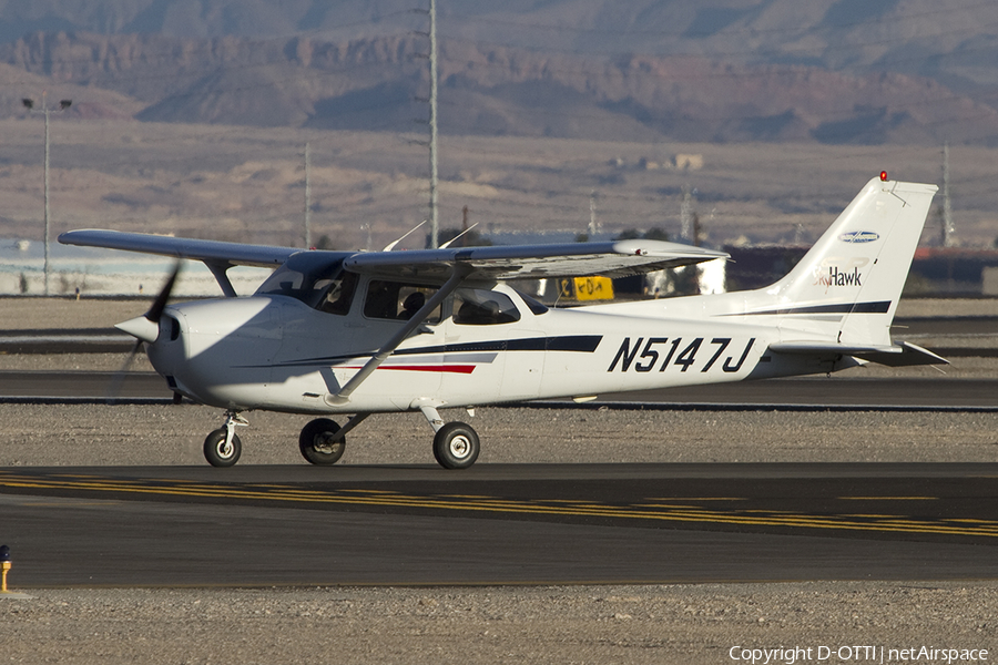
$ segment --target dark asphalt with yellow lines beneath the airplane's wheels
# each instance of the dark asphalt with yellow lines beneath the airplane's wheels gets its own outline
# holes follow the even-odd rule
[[[998,464],[0,470],[21,587],[998,577]]]

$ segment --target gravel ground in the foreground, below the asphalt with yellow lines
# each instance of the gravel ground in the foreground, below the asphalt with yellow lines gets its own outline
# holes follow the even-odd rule
[[[994,652],[998,633],[998,583],[67,590],[37,596],[0,601],[3,662],[714,665],[740,662],[731,654],[742,649],[800,647],[813,649],[812,658],[797,662],[842,663],[841,655],[867,661],[839,651],[854,645]],[[818,659],[821,647],[835,655]]]

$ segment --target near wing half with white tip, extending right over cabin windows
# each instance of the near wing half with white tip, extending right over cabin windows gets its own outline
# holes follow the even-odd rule
[[[727,257],[723,252],[676,243],[619,241],[377,252],[355,254],[344,267],[383,278],[445,282],[459,265],[467,280],[499,282],[583,275],[624,277]]]

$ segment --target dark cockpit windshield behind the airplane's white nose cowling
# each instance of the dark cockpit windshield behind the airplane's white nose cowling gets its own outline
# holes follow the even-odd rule
[[[343,269],[344,256],[302,252],[292,256],[264,282],[256,295],[288,296],[328,311],[349,311],[356,275]]]

